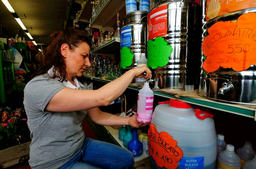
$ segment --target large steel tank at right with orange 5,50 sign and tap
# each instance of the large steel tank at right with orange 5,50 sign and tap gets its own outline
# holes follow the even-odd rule
[[[198,93],[211,100],[255,106],[255,0],[214,2],[203,1],[204,39]]]

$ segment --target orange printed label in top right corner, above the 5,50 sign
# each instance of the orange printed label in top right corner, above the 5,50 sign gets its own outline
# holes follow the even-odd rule
[[[256,7],[255,0],[207,0],[205,19],[208,21],[226,13],[253,7]]]

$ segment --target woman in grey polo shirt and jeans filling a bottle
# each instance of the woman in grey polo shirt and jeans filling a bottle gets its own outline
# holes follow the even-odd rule
[[[132,117],[102,112],[118,98],[134,77],[151,78],[151,71],[138,67],[97,90],[86,89],[76,76],[90,67],[90,38],[77,29],[54,32],[41,65],[24,89],[28,117],[32,169],[132,168],[133,156],[119,146],[84,137],[81,123],[87,115],[100,125],[148,125]],[[146,72],[146,75],[143,73]]]

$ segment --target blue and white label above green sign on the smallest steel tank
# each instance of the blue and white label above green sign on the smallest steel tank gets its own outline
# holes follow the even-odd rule
[[[132,27],[126,26],[121,29],[120,48],[130,47],[132,41]]]

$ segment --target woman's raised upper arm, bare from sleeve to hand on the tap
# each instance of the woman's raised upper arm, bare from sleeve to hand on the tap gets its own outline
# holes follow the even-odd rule
[[[147,74],[143,75],[144,72]],[[71,112],[107,106],[125,91],[134,77],[150,79],[152,74],[146,66],[143,66],[127,71],[119,78],[97,90],[64,88],[52,97],[45,110],[52,112]]]

